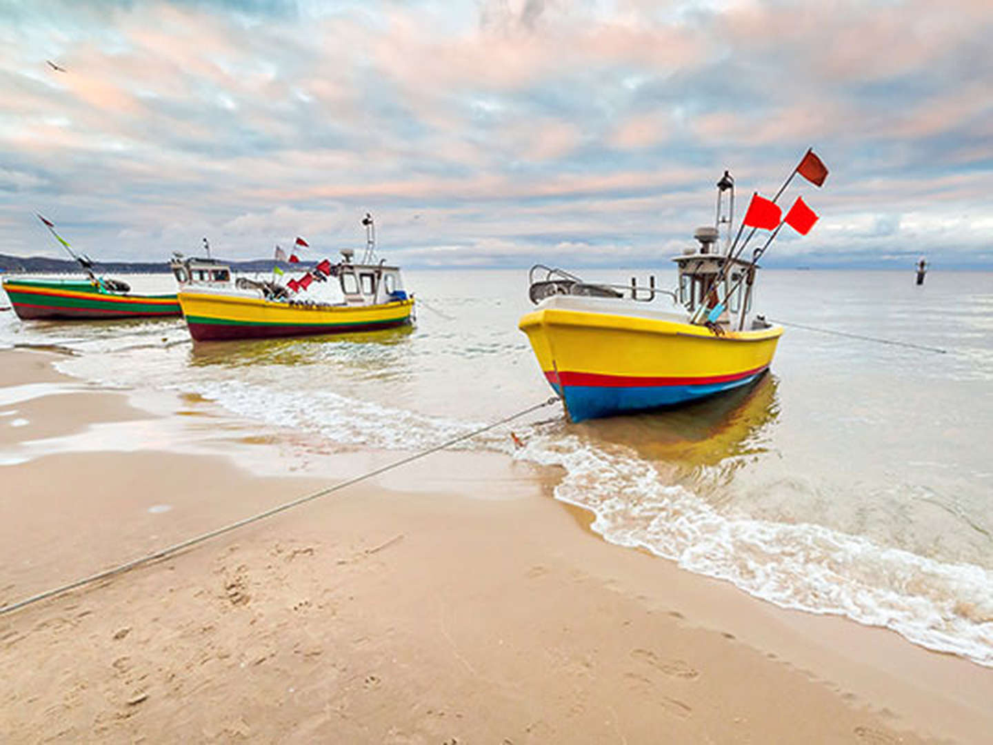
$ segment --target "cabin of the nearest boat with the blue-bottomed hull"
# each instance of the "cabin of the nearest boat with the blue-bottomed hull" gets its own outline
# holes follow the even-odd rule
[[[758,266],[715,250],[716,227],[699,227],[693,237],[700,245],[672,259],[679,272],[679,302],[690,315],[697,314],[701,308],[713,310],[722,305],[716,323],[741,328],[743,318],[752,309],[752,289]],[[731,265],[725,268],[729,262]],[[722,274],[723,279],[718,282]]]

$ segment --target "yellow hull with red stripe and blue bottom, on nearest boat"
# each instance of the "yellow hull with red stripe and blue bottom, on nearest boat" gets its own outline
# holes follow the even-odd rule
[[[542,308],[525,315],[545,378],[573,421],[677,406],[766,373],[781,327],[728,332],[675,320]]]

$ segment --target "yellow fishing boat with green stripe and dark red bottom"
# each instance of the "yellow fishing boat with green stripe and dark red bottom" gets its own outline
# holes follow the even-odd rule
[[[355,250],[342,258],[317,262],[300,278],[283,284],[271,279],[233,279],[228,267],[203,259],[174,259],[180,280],[179,301],[198,342],[233,339],[317,336],[374,331],[411,322],[413,296],[403,289],[400,269],[375,260],[372,219],[366,215],[365,252],[355,261]],[[282,274],[282,270],[279,270]],[[310,299],[309,289],[337,279],[343,302]]]

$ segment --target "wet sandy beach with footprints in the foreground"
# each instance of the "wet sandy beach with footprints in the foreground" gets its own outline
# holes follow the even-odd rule
[[[55,359],[0,353],[0,605],[396,457],[294,475],[209,402],[153,414]],[[149,447],[107,447],[120,423]],[[555,479],[441,453],[0,616],[3,739],[988,741],[993,671],[611,545]]]

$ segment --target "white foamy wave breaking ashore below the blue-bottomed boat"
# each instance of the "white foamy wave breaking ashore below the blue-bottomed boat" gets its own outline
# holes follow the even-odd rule
[[[948,564],[810,523],[724,515],[623,446],[532,437],[518,454],[560,466],[555,498],[590,510],[594,530],[780,607],[847,616],[930,650],[993,667],[993,572]]]

